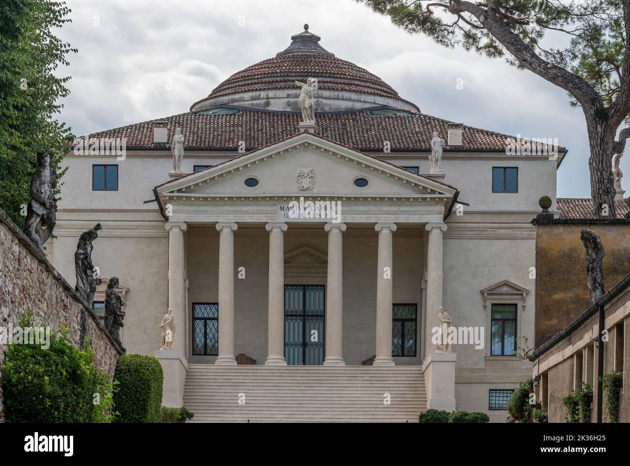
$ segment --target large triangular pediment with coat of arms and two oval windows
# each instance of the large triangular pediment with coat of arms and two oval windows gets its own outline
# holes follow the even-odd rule
[[[355,180],[367,180],[357,186]],[[246,180],[255,179],[256,186]],[[423,196],[449,202],[455,188],[302,133],[157,186],[162,196]]]

